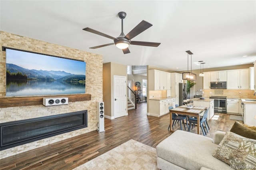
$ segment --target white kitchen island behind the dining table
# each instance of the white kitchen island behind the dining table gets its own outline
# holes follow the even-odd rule
[[[210,98],[204,98],[204,99],[199,99],[199,98],[193,98],[189,99],[190,101],[193,101],[193,106],[200,106],[200,107],[207,107],[210,108],[208,112],[207,119],[211,119],[214,115],[214,99]]]

